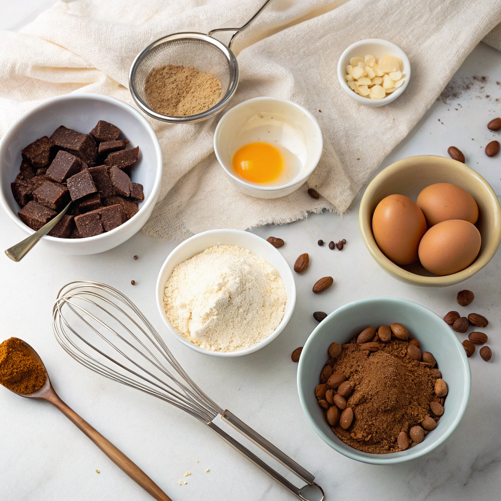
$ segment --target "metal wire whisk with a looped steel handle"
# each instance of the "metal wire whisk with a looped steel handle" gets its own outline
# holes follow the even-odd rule
[[[148,319],[116,289],[87,281],[65,285],[54,305],[53,330],[63,349],[88,369],[187,412],[298,498],[323,501],[324,491],[314,482],[315,477],[207,396],[177,362]],[[306,485],[295,486],[223,431],[216,424],[218,419],[261,447]],[[305,497],[306,494],[314,497]]]

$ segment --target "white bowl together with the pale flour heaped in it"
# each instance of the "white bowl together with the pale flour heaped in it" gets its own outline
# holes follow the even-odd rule
[[[253,353],[286,327],[296,304],[287,261],[247,231],[204,231],[180,243],[157,279],[157,307],[169,332],[194,351]]]

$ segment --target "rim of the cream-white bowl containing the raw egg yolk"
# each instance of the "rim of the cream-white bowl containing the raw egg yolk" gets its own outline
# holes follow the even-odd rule
[[[288,183],[281,184],[280,186],[260,186],[258,184],[248,183],[248,182],[240,179],[239,177],[235,176],[223,164],[223,162],[221,160],[221,157],[219,155],[218,148],[217,148],[217,138],[218,138],[218,135],[219,135],[219,130],[222,128],[221,124],[224,124],[224,121],[227,120],[227,117],[230,116],[233,113],[237,113],[240,108],[243,108],[244,106],[247,106],[250,103],[263,102],[263,101],[275,101],[275,102],[288,103],[288,104],[290,104],[290,105],[298,108],[313,123],[314,127],[317,130],[316,133],[318,134],[318,137],[320,139],[320,144],[319,144],[319,147],[318,147],[318,152],[317,152],[317,154],[315,155],[315,157],[313,159],[312,167],[310,169],[308,169],[308,171],[305,174],[303,174],[301,177],[297,176],[294,179],[292,179],[291,181],[289,181]],[[278,98],[278,97],[262,96],[262,97],[254,97],[252,99],[247,99],[246,101],[238,103],[236,106],[233,106],[230,110],[228,110],[226,113],[224,113],[224,115],[219,120],[219,122],[217,124],[217,127],[216,127],[216,129],[214,131],[213,145],[214,145],[214,153],[216,155],[217,161],[219,162],[219,165],[224,170],[224,172],[229,177],[231,177],[232,180],[236,181],[237,183],[241,184],[242,186],[245,186],[245,187],[248,187],[248,188],[253,188],[253,189],[256,189],[258,191],[278,191],[278,190],[282,190],[282,189],[285,189],[285,188],[289,188],[291,186],[295,186],[296,184],[301,185],[301,184],[303,184],[311,176],[311,174],[313,173],[313,171],[317,168],[317,165],[318,165],[318,163],[320,161],[320,158],[322,157],[322,152],[324,150],[324,137],[323,137],[323,134],[322,134],[322,129],[320,128],[320,125],[317,122],[317,119],[312,115],[312,113],[310,113],[306,108],[304,108],[300,104],[295,103],[294,101],[290,101],[289,99],[282,99],[282,98]]]

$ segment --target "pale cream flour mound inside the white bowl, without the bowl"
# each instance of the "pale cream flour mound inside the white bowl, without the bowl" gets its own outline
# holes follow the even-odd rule
[[[172,327],[218,352],[244,350],[270,336],[286,301],[278,271],[237,245],[214,245],[177,265],[163,295]]]

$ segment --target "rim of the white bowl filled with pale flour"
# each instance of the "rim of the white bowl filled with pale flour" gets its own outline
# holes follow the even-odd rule
[[[255,344],[254,346],[251,346],[250,348],[246,348],[245,350],[230,351],[230,352],[216,352],[216,351],[205,350],[205,349],[200,348],[199,346],[197,346],[193,343],[190,343],[189,341],[184,339],[174,329],[174,327],[172,327],[172,325],[170,324],[170,322],[167,319],[167,316],[165,315],[165,311],[163,308],[163,291],[165,289],[165,284],[167,283],[167,280],[169,279],[170,276],[167,277],[167,279],[165,281],[163,281],[163,280],[161,281],[161,278],[162,278],[162,274],[163,274],[165,268],[167,267],[167,265],[171,264],[172,256],[174,255],[175,252],[177,252],[177,250],[189,245],[191,242],[193,242],[193,241],[195,241],[203,236],[217,235],[217,234],[221,235],[221,237],[224,235],[228,235],[228,234],[240,234],[240,235],[244,234],[246,238],[249,238],[251,240],[259,241],[260,243],[266,242],[266,240],[264,238],[262,238],[259,235],[256,235],[255,233],[250,233],[249,231],[243,231],[240,229],[209,229],[207,231],[202,231],[201,233],[197,233],[193,236],[190,236],[186,240],[184,240],[181,243],[179,243],[178,245],[176,245],[171,250],[171,252],[167,256],[167,258],[165,259],[164,263],[162,264],[160,271],[158,272],[158,277],[157,277],[156,286],[155,286],[156,305],[157,305],[158,313],[160,314],[160,317],[163,320],[164,324],[167,326],[167,330],[170,332],[170,334],[177,341],[179,341],[183,345],[187,346],[191,350],[196,351],[198,353],[203,353],[204,355],[211,355],[214,357],[226,357],[226,358],[228,358],[228,357],[241,357],[243,355],[248,355],[249,353],[254,353],[255,351],[260,350],[261,348],[263,348],[267,344],[271,343],[275,338],[277,338],[278,335],[285,329],[285,327],[287,326],[287,324],[291,320],[291,317],[294,313],[294,308],[296,306],[296,282],[294,280],[294,275],[292,273],[292,270],[291,270],[289,264],[287,263],[287,260],[284,258],[284,256],[282,256],[282,254],[275,247],[273,247],[273,245],[270,245],[270,247],[272,247],[270,249],[271,252],[273,254],[275,254],[277,257],[279,257],[279,259],[283,260],[284,264],[286,265],[285,270],[286,270],[286,273],[289,275],[289,279],[290,279],[291,284],[292,284],[291,291],[286,291],[287,292],[286,307],[290,303],[291,309],[290,309],[289,313],[287,313],[287,312],[284,313],[284,318],[282,319],[282,321],[280,322],[278,327],[267,338],[263,339],[263,341],[260,341],[259,343]],[[268,243],[268,242],[266,242],[266,243]],[[224,243],[221,243],[221,244],[224,245]],[[244,248],[247,248],[247,247],[244,247]],[[195,253],[195,254],[198,254],[198,253]],[[192,256],[195,256],[195,254],[193,254]],[[179,263],[176,263],[175,266],[177,266],[178,264]],[[285,287],[285,284],[284,284],[284,287]]]

